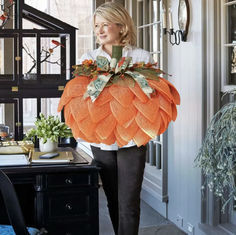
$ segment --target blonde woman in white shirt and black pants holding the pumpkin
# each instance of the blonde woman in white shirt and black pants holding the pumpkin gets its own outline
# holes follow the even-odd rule
[[[149,52],[136,48],[134,23],[124,7],[109,2],[94,13],[94,32],[100,47],[84,54],[85,59],[97,56],[111,59],[112,45],[123,46],[123,57],[135,62],[153,62]],[[101,167],[100,176],[108,201],[115,234],[137,235],[140,218],[140,191],[145,167],[146,146],[134,142],[118,148],[117,144],[91,144],[94,162]]]

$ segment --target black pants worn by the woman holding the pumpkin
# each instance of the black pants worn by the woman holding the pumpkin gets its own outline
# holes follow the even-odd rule
[[[115,234],[138,235],[146,146],[117,151],[91,148],[94,163],[101,167],[100,176]]]

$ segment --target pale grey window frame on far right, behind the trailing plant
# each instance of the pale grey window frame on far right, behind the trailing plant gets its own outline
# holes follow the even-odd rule
[[[203,127],[202,139],[213,115],[223,105],[220,97],[223,92],[235,87],[227,84],[225,73],[225,24],[222,2],[225,0],[202,1],[203,15]],[[201,175],[202,184],[205,177]],[[220,210],[221,202],[208,187],[202,191],[201,223],[199,227],[206,234],[234,234],[236,226],[230,223],[229,208],[225,214]]]

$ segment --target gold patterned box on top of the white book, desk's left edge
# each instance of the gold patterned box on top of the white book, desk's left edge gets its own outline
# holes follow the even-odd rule
[[[0,154],[28,154],[34,148],[32,141],[3,141],[0,142]]]

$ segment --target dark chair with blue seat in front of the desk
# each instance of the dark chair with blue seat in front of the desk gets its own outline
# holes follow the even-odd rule
[[[15,188],[2,170],[0,170],[0,191],[11,223],[11,225],[0,224],[1,235],[41,235],[47,233],[45,229],[26,227]]]

